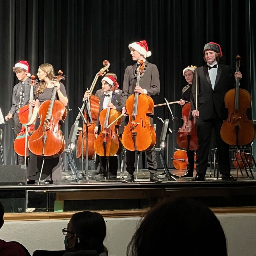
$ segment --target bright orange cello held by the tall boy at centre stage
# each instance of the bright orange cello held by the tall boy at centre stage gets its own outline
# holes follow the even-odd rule
[[[140,86],[140,76],[144,68],[143,60],[137,68],[136,86]],[[130,151],[144,151],[151,149],[156,144],[156,133],[150,124],[149,114],[153,113],[154,102],[145,94],[134,93],[126,100],[126,111],[129,122],[124,127],[122,143]],[[140,110],[140,111],[138,111]]]

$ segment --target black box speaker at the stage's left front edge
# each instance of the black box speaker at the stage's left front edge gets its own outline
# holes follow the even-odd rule
[[[0,185],[27,185],[25,165],[0,165]]]

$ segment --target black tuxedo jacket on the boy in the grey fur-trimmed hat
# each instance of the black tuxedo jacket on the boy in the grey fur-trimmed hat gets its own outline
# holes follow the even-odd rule
[[[217,114],[216,117],[220,119],[228,117],[224,98],[226,92],[234,85],[235,79],[232,79],[232,68],[230,66],[218,63],[217,68],[214,89],[212,89],[207,64],[197,68],[199,119],[207,120],[214,114]],[[193,111],[196,109],[196,76],[193,77],[191,92],[191,111]]]

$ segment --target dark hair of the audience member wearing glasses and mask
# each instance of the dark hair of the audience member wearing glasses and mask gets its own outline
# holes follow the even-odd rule
[[[98,254],[104,252],[106,224],[100,213],[90,211],[75,213],[71,217],[71,229],[80,240],[77,243],[77,246],[80,246],[79,250],[96,250]]]

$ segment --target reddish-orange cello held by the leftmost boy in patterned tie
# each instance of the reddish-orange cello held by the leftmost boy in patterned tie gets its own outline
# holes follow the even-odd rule
[[[36,82],[35,82],[36,80],[35,80],[34,75],[32,75],[30,78],[31,78],[31,81],[30,81],[29,100],[31,101],[31,100],[33,100],[33,96],[34,96],[34,86],[36,84]],[[32,132],[34,131],[36,119],[34,120],[34,123],[28,127],[27,136],[25,133],[26,133],[26,124],[31,119],[32,112],[33,112],[33,107],[29,104],[29,105],[25,105],[22,108],[20,108],[20,111],[18,114],[18,117],[19,117],[20,123],[22,124],[22,127],[20,129],[20,133],[17,134],[17,137],[14,140],[13,148],[14,148],[14,151],[20,156],[25,156],[25,155],[28,156],[28,150],[27,150],[28,140],[29,140]]]

